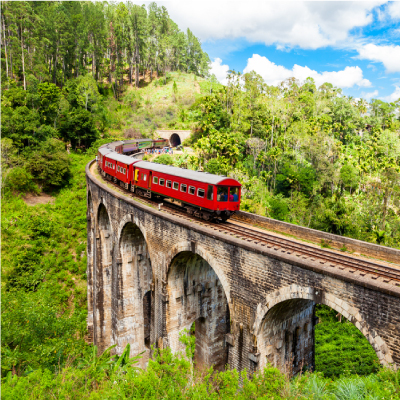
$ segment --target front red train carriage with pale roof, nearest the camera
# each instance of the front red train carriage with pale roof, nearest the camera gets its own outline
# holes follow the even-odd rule
[[[134,165],[132,186],[139,194],[171,199],[189,214],[226,221],[240,207],[241,184],[231,178],[146,161]]]

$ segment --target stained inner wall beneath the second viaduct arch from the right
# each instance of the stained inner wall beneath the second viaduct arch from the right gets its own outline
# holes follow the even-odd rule
[[[173,352],[183,351],[179,335],[184,329],[189,331],[195,322],[197,366],[213,365],[222,370],[228,362],[228,300],[216,271],[198,253],[181,251],[168,268],[167,340]]]

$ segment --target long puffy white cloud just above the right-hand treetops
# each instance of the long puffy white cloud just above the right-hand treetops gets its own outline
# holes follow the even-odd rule
[[[371,86],[371,82],[363,78],[363,72],[360,67],[346,67],[341,71],[325,71],[319,73],[308,67],[302,67],[297,64],[295,64],[292,69],[287,69],[282,65],[276,65],[266,57],[253,54],[253,56],[247,60],[247,65],[243,72],[246,73],[252,70],[260,74],[269,85],[278,85],[285,79],[291,77],[295,77],[300,81],[311,77],[315,80],[317,87],[325,82],[330,82],[334,86],[340,88],[350,88],[355,85],[360,87]]]

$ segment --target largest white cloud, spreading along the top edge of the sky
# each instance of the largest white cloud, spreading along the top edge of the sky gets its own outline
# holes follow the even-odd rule
[[[202,41],[245,38],[280,48],[317,49],[348,44],[349,32],[370,24],[372,10],[382,3],[171,0],[160,5]]]

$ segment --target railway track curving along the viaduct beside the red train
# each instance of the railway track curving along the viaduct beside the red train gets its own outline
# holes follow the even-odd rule
[[[104,180],[104,178],[102,178]],[[197,218],[193,215],[188,215],[181,209],[180,206],[169,203],[164,200],[151,200],[138,196],[132,193],[120,185],[106,180],[111,183],[119,190],[124,193],[129,193],[131,197],[139,199],[141,202],[147,203],[153,207],[159,207],[159,204],[163,203],[162,210],[172,215],[176,215],[190,222],[196,222],[199,225],[207,228],[214,229],[219,233],[224,233],[236,237],[238,239],[245,240],[254,244],[265,246],[269,249],[275,250],[277,253],[292,254],[302,259],[308,259],[310,261],[319,262],[321,265],[328,266],[331,268],[338,268],[340,270],[346,270],[350,273],[357,272],[360,276],[369,276],[371,279],[382,278],[384,283],[391,283],[400,287],[400,269],[396,269],[390,266],[378,264],[373,261],[367,261],[363,259],[357,259],[347,254],[340,254],[326,249],[319,249],[317,247],[308,245],[306,243],[299,243],[297,241],[281,238],[274,236],[268,232],[260,232],[255,229],[246,228],[242,225],[235,224],[234,222],[217,223],[204,221],[201,218]]]

